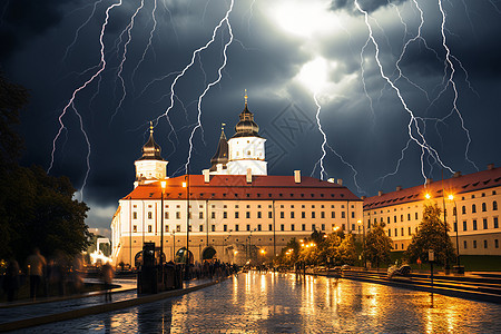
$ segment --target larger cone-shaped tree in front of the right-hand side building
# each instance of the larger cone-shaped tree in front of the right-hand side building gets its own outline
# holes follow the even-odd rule
[[[454,246],[449,236],[449,225],[440,218],[442,209],[434,205],[425,205],[423,220],[421,220],[418,232],[413,235],[405,256],[415,262],[418,258],[428,261],[429,249],[434,250],[435,262],[448,266],[454,255]]]

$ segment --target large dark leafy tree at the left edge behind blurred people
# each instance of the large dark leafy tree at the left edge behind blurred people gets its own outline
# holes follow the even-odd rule
[[[71,256],[87,247],[89,208],[73,199],[67,177],[19,166],[22,140],[13,126],[27,102],[27,90],[0,72],[0,259],[23,262],[32,247],[45,255],[59,249]]]

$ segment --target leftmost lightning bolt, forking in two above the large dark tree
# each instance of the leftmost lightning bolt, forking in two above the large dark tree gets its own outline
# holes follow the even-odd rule
[[[62,130],[66,129],[66,126],[65,126],[65,122],[62,121],[62,118],[66,116],[66,112],[68,111],[68,108],[71,107],[72,110],[77,114],[77,116],[78,116],[78,118],[79,118],[79,120],[80,120],[80,130],[82,131],[82,134],[84,134],[84,136],[85,136],[85,138],[86,138],[87,145],[88,145],[88,154],[87,154],[87,173],[86,173],[86,178],[85,178],[85,180],[84,180],[84,185],[82,185],[81,190],[80,190],[81,196],[84,196],[84,188],[85,188],[85,186],[86,186],[87,176],[88,176],[89,173],[90,173],[90,163],[89,163],[89,157],[90,157],[90,141],[89,141],[89,138],[88,138],[88,136],[87,136],[87,132],[85,131],[84,122],[82,122],[81,116],[80,116],[80,114],[77,111],[77,109],[76,109],[76,107],[75,107],[75,100],[76,100],[76,98],[77,98],[77,95],[78,95],[81,90],[84,90],[87,86],[89,86],[97,77],[99,77],[100,73],[101,73],[101,72],[105,70],[105,68],[106,68],[104,36],[105,36],[106,27],[108,26],[108,21],[109,21],[109,12],[110,12],[110,10],[114,9],[115,7],[121,6],[121,3],[122,3],[121,0],[119,0],[118,2],[110,4],[110,6],[106,9],[106,12],[105,12],[105,14],[106,14],[106,17],[105,17],[105,22],[104,22],[102,26],[101,26],[101,30],[100,30],[100,35],[99,35],[99,43],[100,43],[100,46],[101,46],[101,47],[100,47],[100,56],[101,56],[101,57],[100,57],[100,62],[99,62],[100,67],[99,67],[99,69],[98,69],[98,70],[97,70],[97,71],[96,71],[96,72],[95,72],[87,81],[84,82],[84,85],[81,85],[81,86],[78,87],[76,90],[73,90],[70,100],[69,100],[68,104],[65,106],[65,108],[62,109],[62,112],[61,112],[61,114],[59,115],[59,117],[58,117],[58,120],[59,120],[59,130],[58,130],[56,137],[55,137],[53,140],[52,140],[52,151],[51,151],[51,155],[50,155],[50,156],[51,156],[51,160],[50,160],[50,166],[49,166],[49,168],[47,169],[47,173],[48,173],[48,174],[50,173],[50,170],[51,170],[52,167],[53,167],[57,140],[58,140],[59,137],[61,136]]]

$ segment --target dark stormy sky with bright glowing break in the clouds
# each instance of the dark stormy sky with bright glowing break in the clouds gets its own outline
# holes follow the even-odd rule
[[[3,3],[1,70],[31,95],[22,164],[69,176],[91,227],[109,228],[132,189],[150,120],[168,175],[183,175],[200,106],[189,164],[200,174],[245,89],[273,175],[320,178],[323,147],[322,177],[372,196],[501,163],[495,0]]]

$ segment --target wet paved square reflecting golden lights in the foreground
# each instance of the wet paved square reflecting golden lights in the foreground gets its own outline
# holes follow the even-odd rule
[[[495,333],[500,314],[497,304],[372,283],[247,273],[184,296],[22,333]]]

